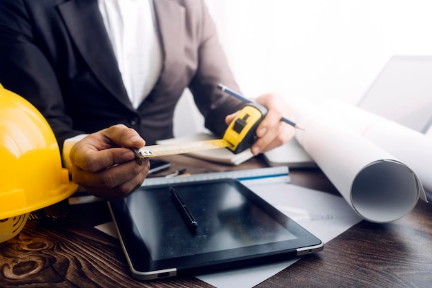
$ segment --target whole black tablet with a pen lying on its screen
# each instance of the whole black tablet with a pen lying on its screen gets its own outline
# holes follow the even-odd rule
[[[108,204],[139,280],[286,260],[324,247],[233,179],[142,186]]]

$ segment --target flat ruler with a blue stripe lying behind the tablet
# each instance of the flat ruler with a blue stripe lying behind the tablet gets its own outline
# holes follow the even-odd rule
[[[259,169],[247,169],[237,171],[213,172],[193,174],[190,176],[177,177],[153,177],[144,180],[141,186],[156,186],[163,184],[177,184],[187,182],[197,182],[205,180],[217,180],[224,178],[233,178],[248,184],[265,184],[274,182],[290,182],[288,166],[277,166]]]

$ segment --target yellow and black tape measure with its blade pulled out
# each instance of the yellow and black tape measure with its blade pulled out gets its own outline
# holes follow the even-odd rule
[[[267,108],[251,103],[246,105],[233,119],[222,139],[196,141],[179,144],[150,145],[132,149],[139,164],[146,157],[157,157],[190,153],[194,151],[228,148],[234,154],[251,147],[255,141],[255,130],[267,113]]]

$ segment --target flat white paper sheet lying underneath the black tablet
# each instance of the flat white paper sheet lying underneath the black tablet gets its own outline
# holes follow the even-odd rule
[[[279,211],[296,220],[324,243],[330,241],[362,220],[339,196],[306,189],[293,184],[247,185]],[[324,246],[324,249],[325,246]],[[215,287],[246,288],[289,267],[300,258],[286,262],[259,265],[253,268],[230,269],[196,276]]]

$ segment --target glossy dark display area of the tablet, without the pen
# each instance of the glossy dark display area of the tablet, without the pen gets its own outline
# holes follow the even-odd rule
[[[137,191],[126,199],[135,226],[153,260],[296,238],[228,182],[175,189],[198,223],[195,232],[190,231],[175,207],[168,186]]]

